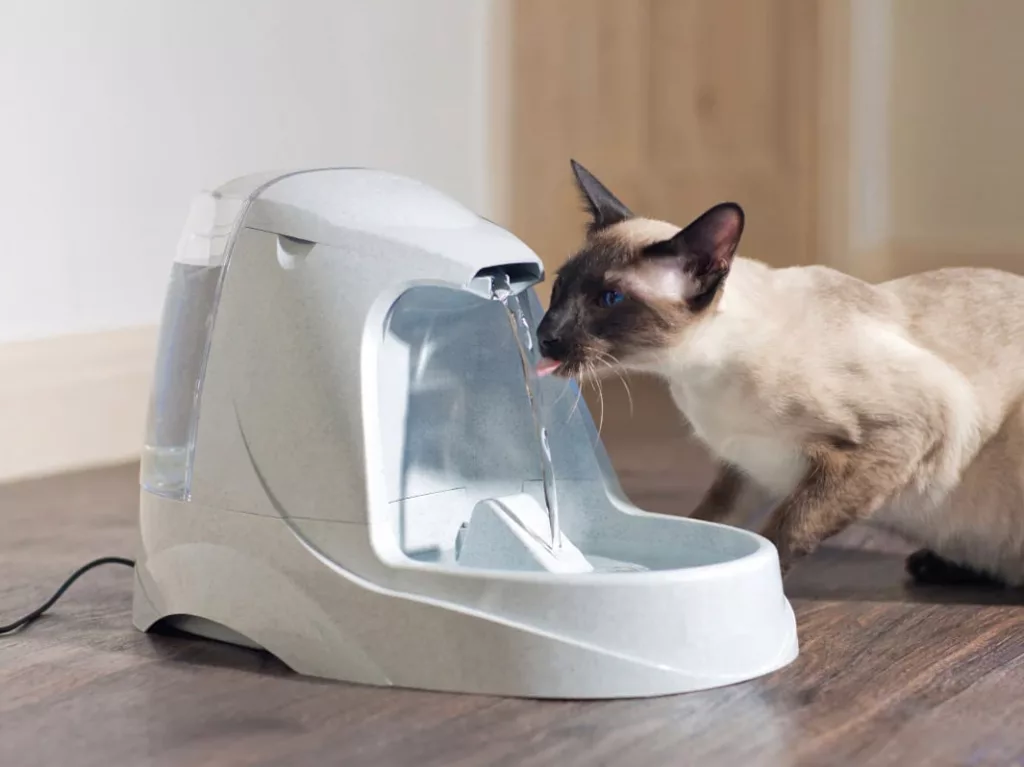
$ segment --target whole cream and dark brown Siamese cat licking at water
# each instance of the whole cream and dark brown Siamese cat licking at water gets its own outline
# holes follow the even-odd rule
[[[764,494],[783,573],[866,522],[924,547],[920,582],[1024,585],[1024,278],[772,268],[736,255],[735,203],[680,228],[571,167],[590,220],[538,328],[540,375],[665,379],[720,462],[693,516]]]

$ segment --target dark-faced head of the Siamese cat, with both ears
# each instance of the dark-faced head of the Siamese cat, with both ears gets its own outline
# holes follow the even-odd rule
[[[590,222],[558,270],[538,328],[541,375],[630,366],[677,344],[715,310],[743,231],[743,211],[716,205],[685,228],[635,216],[586,168],[572,172]]]

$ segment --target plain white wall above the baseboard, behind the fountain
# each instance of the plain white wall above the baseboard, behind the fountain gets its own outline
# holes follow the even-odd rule
[[[0,343],[158,322],[191,195],[370,165],[495,215],[493,0],[2,0]]]

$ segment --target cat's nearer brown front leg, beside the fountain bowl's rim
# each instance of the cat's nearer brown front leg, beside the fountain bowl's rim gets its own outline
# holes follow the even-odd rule
[[[783,574],[822,541],[867,519],[906,486],[919,464],[912,441],[811,451],[807,475],[775,507],[761,530],[778,550]]]

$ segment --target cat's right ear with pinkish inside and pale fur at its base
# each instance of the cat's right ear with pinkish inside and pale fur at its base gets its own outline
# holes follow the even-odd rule
[[[742,233],[742,208],[716,205],[672,239],[647,246],[629,269],[627,287],[646,300],[703,308],[729,273]]]

